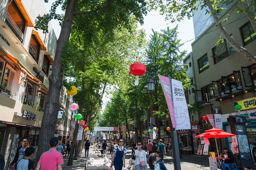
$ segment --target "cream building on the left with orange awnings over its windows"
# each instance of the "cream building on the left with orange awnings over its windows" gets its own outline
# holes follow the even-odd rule
[[[47,34],[34,28],[36,17],[46,13],[44,0],[0,1],[0,154],[5,169],[22,139],[37,149],[57,41],[50,23]],[[56,124],[61,140],[70,135],[65,90]]]

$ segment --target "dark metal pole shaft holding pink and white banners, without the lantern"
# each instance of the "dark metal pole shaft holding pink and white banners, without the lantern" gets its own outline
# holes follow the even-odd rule
[[[168,76],[170,79],[170,87],[172,90],[172,77]],[[172,93],[171,93],[172,94]],[[173,97],[172,97],[173,99]],[[172,106],[173,106],[173,100],[172,100]],[[172,122],[171,122],[171,116],[169,114],[169,124],[171,126],[171,134],[172,134],[172,155],[173,155],[173,159],[174,159],[174,169],[175,170],[181,170],[180,167],[180,147],[179,147],[179,142],[178,142],[178,135],[177,132],[173,129],[172,127]]]

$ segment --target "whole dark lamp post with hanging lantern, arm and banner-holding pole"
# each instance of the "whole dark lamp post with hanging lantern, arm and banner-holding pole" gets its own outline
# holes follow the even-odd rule
[[[150,93],[152,93],[153,90],[154,90],[154,81],[153,81],[151,75],[154,75],[156,77],[158,77],[158,76],[155,75],[155,74],[152,74],[150,72],[148,72],[148,73],[150,74],[149,80],[147,82],[148,91]],[[170,76],[168,76],[168,77],[169,77],[169,81],[170,81],[170,88],[171,88],[171,91],[172,91],[172,77],[170,77]],[[174,159],[174,161],[173,161],[174,162],[174,169],[175,170],[181,170],[181,167],[180,167],[180,150],[179,150],[180,147],[179,147],[179,143],[178,143],[178,136],[177,136],[177,132],[175,131],[175,129],[172,126],[170,114],[169,114],[169,125],[171,127],[170,128],[170,135],[171,135],[171,140],[172,140],[172,155],[173,155],[173,159]]]

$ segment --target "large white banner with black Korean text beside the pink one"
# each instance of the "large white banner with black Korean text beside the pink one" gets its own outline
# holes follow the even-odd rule
[[[191,129],[189,111],[182,86],[182,82],[172,79],[172,101],[175,113],[175,130]]]

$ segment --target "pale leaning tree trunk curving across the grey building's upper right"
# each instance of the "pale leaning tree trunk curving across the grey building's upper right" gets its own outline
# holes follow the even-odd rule
[[[210,0],[206,0],[205,1],[209,11],[212,14],[212,17],[215,20],[215,23],[218,26],[219,31],[221,31],[222,36],[227,40],[227,42],[236,49],[236,51],[239,51],[240,53],[245,55],[245,59],[247,61],[251,61],[251,62],[255,62],[256,63],[256,57],[253,56],[253,54],[250,53],[250,51],[248,51],[247,49],[241,47],[239,44],[237,44],[234,40],[232,40],[232,38],[230,37],[230,35],[227,33],[226,29],[222,26],[222,22],[219,20],[218,16],[216,14],[213,14],[213,7],[212,4],[210,2]]]

